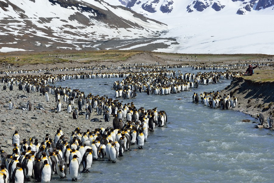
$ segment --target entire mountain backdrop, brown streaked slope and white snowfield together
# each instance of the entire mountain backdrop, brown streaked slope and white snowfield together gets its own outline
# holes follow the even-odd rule
[[[274,55],[273,4],[274,0],[0,0],[0,52],[135,49]]]

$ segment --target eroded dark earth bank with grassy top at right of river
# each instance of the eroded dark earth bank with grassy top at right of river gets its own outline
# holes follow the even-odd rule
[[[253,76],[235,76],[221,94],[230,94],[238,99],[234,110],[256,118],[262,113],[266,118],[274,111],[274,67],[256,69]]]

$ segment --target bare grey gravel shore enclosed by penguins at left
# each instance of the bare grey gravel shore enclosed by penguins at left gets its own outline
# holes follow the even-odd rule
[[[0,84],[0,88],[3,88],[3,83]],[[25,95],[28,98],[21,98],[21,95]],[[98,118],[99,122],[91,122],[85,119],[84,115],[79,115],[78,119],[72,118],[72,113],[67,113],[66,104],[62,103],[62,111],[58,113],[49,112],[50,109],[56,108],[55,96],[49,94],[49,101],[46,102],[45,96],[40,92],[27,93],[26,91],[19,91],[18,86],[14,86],[12,91],[9,89],[1,90],[0,92],[0,105],[1,109],[1,132],[0,132],[0,144],[3,150],[10,152],[12,144],[12,135],[15,130],[19,131],[21,140],[32,137],[38,139],[40,142],[44,139],[48,133],[51,137],[54,137],[56,130],[62,128],[62,131],[66,136],[70,136],[70,133],[77,127],[83,128],[83,130],[112,126],[112,120],[105,122],[102,115],[98,116],[96,110],[91,113],[90,119]],[[27,101],[32,103],[32,111],[23,111],[20,109],[9,110],[6,106],[11,99],[14,103],[14,107],[20,107],[22,104],[26,105]],[[62,100],[61,100],[62,101]],[[20,105],[21,103],[21,105]],[[34,110],[34,107],[41,104],[45,110]],[[84,106],[83,106],[84,107]]]

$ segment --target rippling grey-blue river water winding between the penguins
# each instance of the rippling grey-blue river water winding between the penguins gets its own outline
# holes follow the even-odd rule
[[[190,68],[180,70],[182,73],[197,72]],[[121,78],[66,80],[55,85],[114,97],[111,87],[117,80],[121,81]],[[222,82],[200,85],[195,92],[222,90],[231,80]],[[142,150],[133,145],[132,151],[118,157],[115,164],[105,160],[93,161],[91,173],[80,174],[78,181],[273,183],[274,133],[241,122],[242,119],[255,121],[249,115],[191,103],[193,91],[165,96],[136,92],[136,99],[124,100],[126,103],[133,101],[136,108],[158,107],[166,111],[168,124],[150,132]],[[68,180],[54,176],[51,182]]]

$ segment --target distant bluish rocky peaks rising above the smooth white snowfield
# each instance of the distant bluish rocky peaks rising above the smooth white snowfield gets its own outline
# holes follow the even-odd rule
[[[106,0],[110,4],[124,5],[135,12],[146,13],[171,13],[175,9],[184,12],[202,12],[205,9],[221,11],[233,9],[234,13],[243,15],[261,9],[273,9],[274,0]]]

